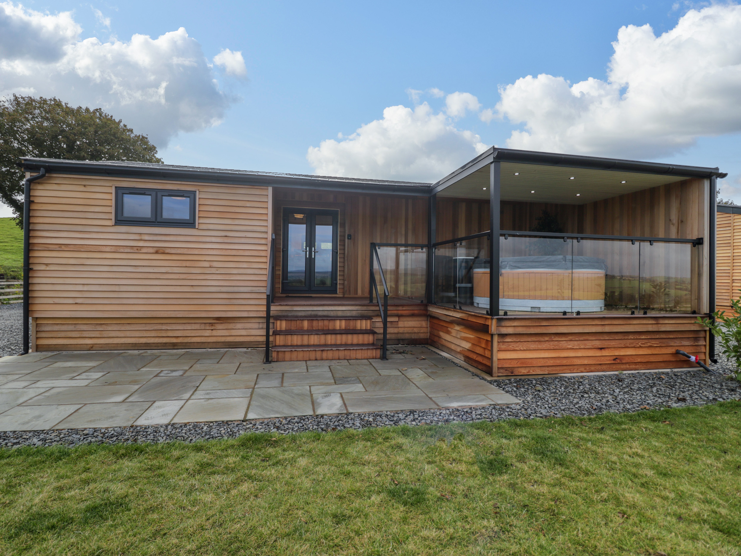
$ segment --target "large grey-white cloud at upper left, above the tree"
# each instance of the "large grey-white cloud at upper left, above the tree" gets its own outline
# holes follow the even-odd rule
[[[236,100],[219,89],[201,45],[182,27],[125,42],[81,40],[81,32],[68,12],[0,3],[0,96],[56,96],[100,107],[161,149],[178,133],[218,124]],[[242,55],[226,52],[234,70]]]

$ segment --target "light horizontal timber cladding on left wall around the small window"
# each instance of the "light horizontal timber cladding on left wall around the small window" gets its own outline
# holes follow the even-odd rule
[[[114,226],[117,186],[196,190],[197,227]],[[36,349],[264,345],[269,191],[81,175],[36,181]]]

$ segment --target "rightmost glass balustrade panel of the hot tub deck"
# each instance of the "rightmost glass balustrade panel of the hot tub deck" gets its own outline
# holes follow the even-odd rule
[[[692,311],[691,244],[640,243],[640,308],[650,312]]]

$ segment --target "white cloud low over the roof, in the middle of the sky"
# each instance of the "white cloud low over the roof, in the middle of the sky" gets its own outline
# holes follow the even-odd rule
[[[436,181],[487,149],[479,135],[458,130],[445,113],[425,102],[392,106],[383,119],[364,124],[344,141],[309,147],[318,175],[401,181]]]

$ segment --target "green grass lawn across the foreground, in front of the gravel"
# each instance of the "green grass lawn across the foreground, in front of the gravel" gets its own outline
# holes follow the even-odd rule
[[[0,451],[6,555],[739,555],[741,403]]]

